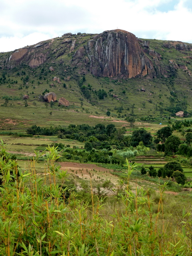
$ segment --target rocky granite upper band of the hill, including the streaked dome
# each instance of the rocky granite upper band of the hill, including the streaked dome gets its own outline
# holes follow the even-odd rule
[[[36,68],[44,63],[59,63],[77,68],[78,74],[90,72],[94,76],[118,79],[169,77],[174,69],[186,67],[186,64],[179,64],[173,58],[165,64],[158,49],[159,52],[176,49],[184,52],[185,58],[190,58],[186,52],[191,51],[192,46],[166,41],[161,49],[151,49],[149,40],[136,38],[134,34],[120,29],[106,30],[100,34],[66,33],[60,38],[3,53],[0,67],[12,69],[27,64]]]

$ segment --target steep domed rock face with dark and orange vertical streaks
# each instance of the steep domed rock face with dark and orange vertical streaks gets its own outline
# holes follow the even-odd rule
[[[86,52],[95,76],[153,76],[152,61],[144,54],[134,34],[117,29],[104,31],[94,38],[96,41],[88,42]]]

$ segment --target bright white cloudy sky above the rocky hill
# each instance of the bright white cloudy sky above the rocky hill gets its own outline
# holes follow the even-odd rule
[[[192,43],[192,0],[0,0],[0,52],[67,32],[122,29]]]

